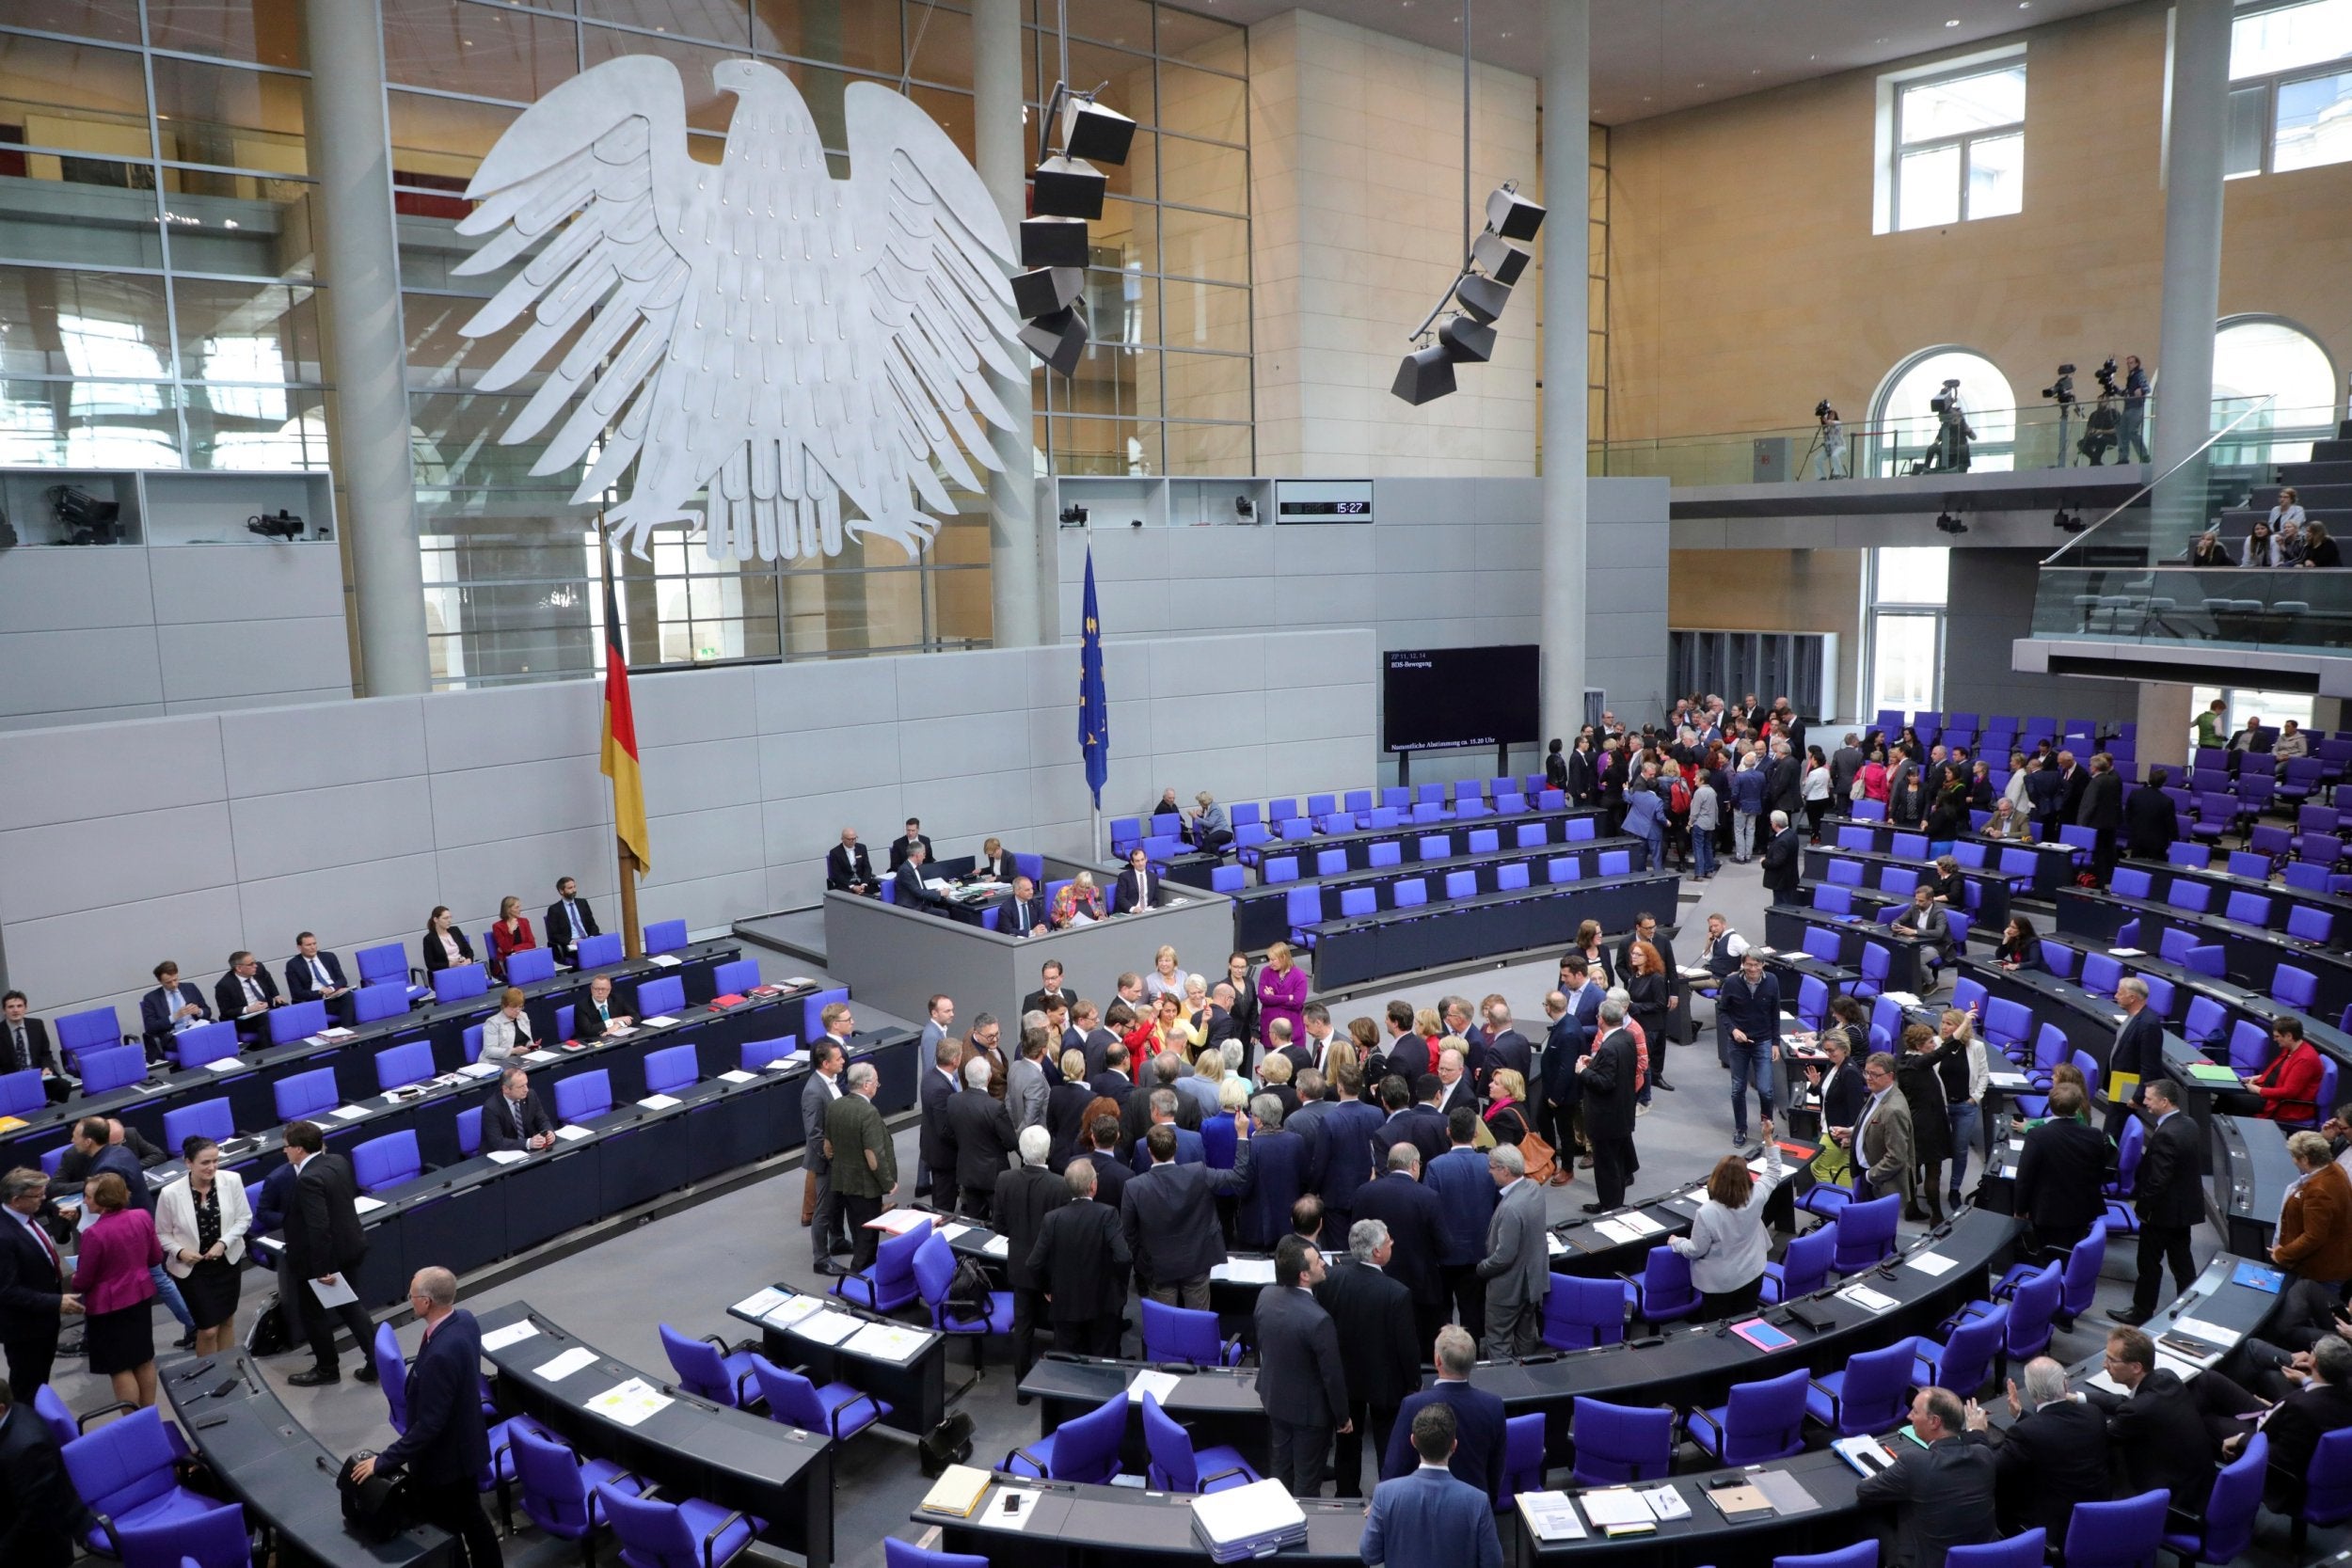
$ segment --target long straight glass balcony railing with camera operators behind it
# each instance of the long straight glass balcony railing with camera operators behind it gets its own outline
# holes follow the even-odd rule
[[[2154,437],[2157,400],[2147,400],[2140,437]],[[2117,425],[2105,421],[2093,430],[2093,404],[2032,404],[2023,409],[1966,409],[1976,437],[1969,442],[1969,473],[2011,473],[2023,468],[2089,468],[2119,463],[2131,423],[2117,404]],[[2249,418],[2253,416],[2253,418]],[[2267,468],[2310,458],[2312,442],[2336,435],[2336,409],[2277,409],[2267,397],[2216,397],[2216,435],[2230,442],[2216,449],[2216,461],[2232,468]],[[1642,442],[1592,442],[1588,473],[1609,477],[1661,477],[1675,484],[1757,484],[1776,480],[1870,477],[1886,480],[1910,473],[1950,473],[1950,454],[1938,451],[1933,414],[1849,423],[1837,451],[1825,454],[1818,425],[1771,430],[1724,430],[1712,435],[1670,435]],[[2063,456],[2063,461],[2060,461]],[[2138,449],[2133,449],[2138,456]]]

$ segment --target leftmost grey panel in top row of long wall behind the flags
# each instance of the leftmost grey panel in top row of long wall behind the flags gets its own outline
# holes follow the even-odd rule
[[[219,719],[80,724],[0,745],[0,830],[226,797]]]

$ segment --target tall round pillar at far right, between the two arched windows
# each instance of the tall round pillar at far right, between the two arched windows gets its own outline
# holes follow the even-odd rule
[[[2213,435],[2213,322],[2220,315],[2220,172],[2230,129],[2230,0],[2173,7],[2173,96],[2164,153],[2164,299],[2157,322],[2161,475]],[[2204,463],[2157,487],[2154,555],[2171,559],[2206,524]]]

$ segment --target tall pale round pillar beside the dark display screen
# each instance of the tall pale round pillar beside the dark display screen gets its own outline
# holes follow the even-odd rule
[[[1543,738],[1573,738],[1585,715],[1592,0],[1545,0],[1543,21]]]

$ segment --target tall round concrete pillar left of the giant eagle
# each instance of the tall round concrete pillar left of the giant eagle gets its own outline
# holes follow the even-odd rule
[[[318,270],[334,360],[334,456],[343,538],[360,609],[367,696],[428,691],[426,583],[416,557],[409,470],[407,346],[393,230],[390,132],[383,110],[383,24],[376,0],[303,0],[310,54],[310,174],[318,179]]]

